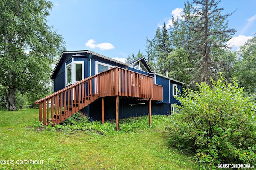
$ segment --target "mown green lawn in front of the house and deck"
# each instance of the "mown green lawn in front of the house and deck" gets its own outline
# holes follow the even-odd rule
[[[113,130],[111,121],[38,130],[38,109],[0,111],[0,161],[6,163],[0,163],[0,170],[198,169],[193,155],[167,147],[166,121],[168,117],[154,115],[152,127],[148,117],[137,117],[120,121],[120,131]]]

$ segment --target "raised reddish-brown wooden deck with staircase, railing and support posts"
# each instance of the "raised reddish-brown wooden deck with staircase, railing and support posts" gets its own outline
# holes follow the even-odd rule
[[[118,96],[148,99],[151,125],[151,101],[163,100],[163,87],[154,84],[151,76],[114,67],[36,101],[35,104],[39,104],[39,121],[44,125],[50,121],[52,125],[60,123],[98,98],[102,98],[104,108],[104,97],[107,96],[116,96],[117,124]],[[102,112],[104,123],[104,109]]]

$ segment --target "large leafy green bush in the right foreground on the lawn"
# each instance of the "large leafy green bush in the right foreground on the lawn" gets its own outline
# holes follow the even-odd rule
[[[195,153],[201,169],[215,169],[218,164],[256,162],[255,104],[243,97],[243,88],[217,81],[197,84],[198,90],[184,89],[176,98],[179,114],[166,126],[168,143],[180,150]]]

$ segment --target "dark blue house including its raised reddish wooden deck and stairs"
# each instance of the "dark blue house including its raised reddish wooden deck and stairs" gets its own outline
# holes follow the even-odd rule
[[[176,112],[177,89],[182,91],[184,84],[152,72],[144,57],[123,63],[89,50],[63,51],[50,78],[54,93],[35,102],[43,110],[44,124],[60,123],[77,111],[102,123],[171,114]]]

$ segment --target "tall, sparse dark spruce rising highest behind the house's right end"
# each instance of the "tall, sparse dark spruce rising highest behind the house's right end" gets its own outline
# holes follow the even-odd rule
[[[186,37],[185,41],[181,41],[184,42],[182,47],[186,46],[184,49],[190,50],[188,57],[194,64],[191,84],[210,84],[210,77],[218,76],[216,73],[222,70],[222,61],[218,60],[213,51],[227,49],[226,42],[236,32],[235,29],[228,29],[228,22],[225,22],[233,12],[221,14],[223,8],[218,7],[219,2],[220,0],[192,0],[191,4],[185,3],[178,35]]]

